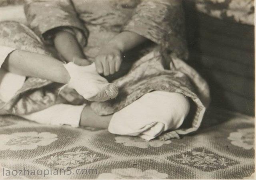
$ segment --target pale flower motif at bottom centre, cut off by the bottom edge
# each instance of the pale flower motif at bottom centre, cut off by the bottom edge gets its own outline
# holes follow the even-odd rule
[[[113,169],[111,173],[102,173],[98,179],[165,179],[168,174],[149,169],[142,171],[137,168]]]

